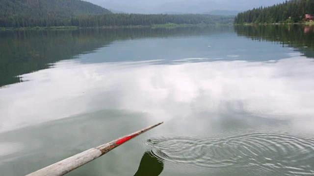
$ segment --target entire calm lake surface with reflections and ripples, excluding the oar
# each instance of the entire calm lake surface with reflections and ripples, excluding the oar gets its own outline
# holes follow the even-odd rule
[[[314,175],[312,26],[0,32],[0,176]]]

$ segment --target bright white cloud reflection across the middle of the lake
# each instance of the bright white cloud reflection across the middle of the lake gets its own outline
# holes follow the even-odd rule
[[[276,63],[59,62],[0,89],[0,132],[104,109],[145,112],[158,121],[243,112],[313,131],[313,67],[301,56]]]

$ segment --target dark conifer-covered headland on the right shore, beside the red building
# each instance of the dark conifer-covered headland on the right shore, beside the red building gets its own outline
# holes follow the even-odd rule
[[[299,22],[305,14],[314,14],[314,0],[289,0],[269,7],[260,7],[239,13],[236,24]]]

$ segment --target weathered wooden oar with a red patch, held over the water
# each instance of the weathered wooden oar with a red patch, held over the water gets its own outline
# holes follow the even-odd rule
[[[82,166],[99,156],[102,156],[112,149],[118,147],[119,145],[123,144],[124,142],[130,140],[131,138],[137,136],[138,134],[141,134],[143,132],[147,132],[148,130],[157,127],[158,125],[162,124],[163,122],[160,122],[156,125],[147,127],[146,129],[143,129],[138,132],[131,133],[129,135],[120,137],[116,140],[113,140],[111,142],[108,142],[106,144],[100,145],[98,147],[86,150],[82,153],[76,154],[74,156],[68,157],[62,161],[59,161],[57,163],[54,163],[50,166],[47,166],[43,169],[40,169],[38,171],[35,171],[31,174],[28,174],[27,176],[63,176],[79,166]]]

